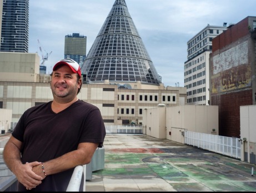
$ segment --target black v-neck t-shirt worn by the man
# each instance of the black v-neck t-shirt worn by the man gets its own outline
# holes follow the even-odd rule
[[[102,147],[106,129],[98,107],[78,100],[54,113],[51,104],[52,101],[27,109],[12,132],[14,138],[23,142],[23,164],[61,157],[83,142],[99,143],[98,147]],[[73,170],[48,175],[32,191],[66,191]],[[26,191],[26,187],[19,183],[18,191]]]

